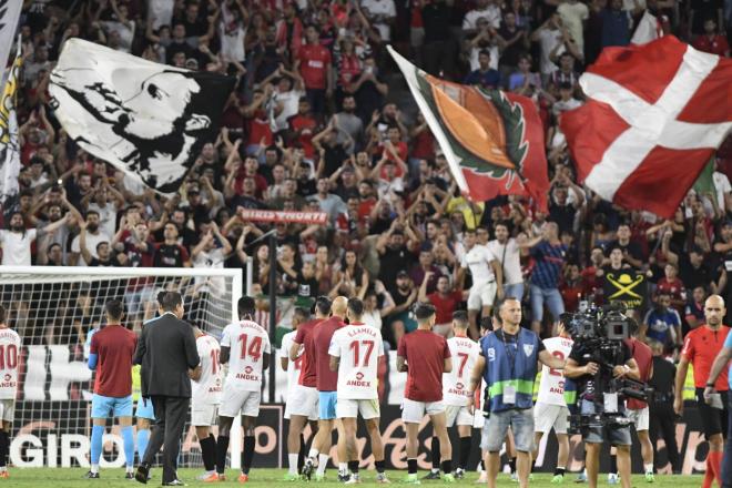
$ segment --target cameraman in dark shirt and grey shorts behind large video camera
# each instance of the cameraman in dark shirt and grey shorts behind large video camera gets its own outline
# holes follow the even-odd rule
[[[565,377],[571,378],[577,383],[577,390],[580,394],[580,414],[593,415],[602,413],[602,405],[597,405],[598,398],[598,373],[601,373],[601,366],[591,360],[590,357],[594,352],[583,340],[575,340],[571,353],[567,358],[567,366],[565,366]],[[608,357],[612,365],[612,376],[614,378],[632,378],[638,380],[640,372],[638,364],[633,359],[632,353],[628,345],[622,342],[619,344],[619,354],[614,358]],[[623,413],[622,401],[618,403],[618,413]],[[623,488],[630,488],[630,427],[629,426],[590,426],[582,428],[582,440],[584,440],[586,450],[586,468],[587,479],[590,488],[598,485],[598,471],[600,469],[600,449],[604,437],[618,450],[618,471],[620,474],[620,481]]]

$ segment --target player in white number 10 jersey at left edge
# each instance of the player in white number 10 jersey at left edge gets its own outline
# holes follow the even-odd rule
[[[10,430],[16,416],[20,336],[8,328],[6,308],[0,305],[0,478],[8,478]]]

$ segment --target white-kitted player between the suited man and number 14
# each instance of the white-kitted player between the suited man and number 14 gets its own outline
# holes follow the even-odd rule
[[[195,347],[201,364],[191,373],[191,425],[201,445],[201,457],[205,472],[199,476],[202,481],[215,481],[216,439],[211,427],[216,425],[216,415],[221,404],[222,370],[218,357],[221,346],[213,336],[194,327]]]

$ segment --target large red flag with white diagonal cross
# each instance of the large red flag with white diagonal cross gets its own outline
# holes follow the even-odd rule
[[[561,128],[580,180],[604,200],[673,216],[732,129],[732,60],[672,35],[609,48]]]

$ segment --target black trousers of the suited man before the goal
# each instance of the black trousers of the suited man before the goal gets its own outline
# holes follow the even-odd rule
[[[177,455],[181,451],[181,436],[189,415],[191,398],[152,396],[155,410],[155,425],[150,435],[148,450],[142,462],[152,465],[155,455],[163,447],[163,482],[171,482],[177,478]]]

